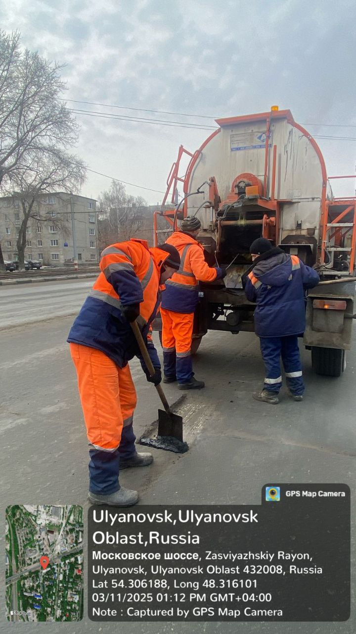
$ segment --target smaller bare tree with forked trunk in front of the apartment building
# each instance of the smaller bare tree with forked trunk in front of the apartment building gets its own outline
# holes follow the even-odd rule
[[[11,195],[20,201],[22,207],[22,219],[16,241],[20,269],[25,268],[29,219],[35,218],[40,223],[49,220],[48,216],[41,212],[43,194],[58,190],[73,193],[84,183],[85,176],[86,169],[83,162],[61,150],[56,150],[50,156],[44,155],[42,159],[36,158],[22,171],[19,169],[16,171],[16,175],[11,179],[12,184],[15,185]],[[62,230],[65,228],[63,223],[65,221],[61,218],[53,221],[53,224]]]

